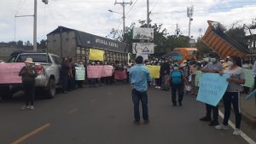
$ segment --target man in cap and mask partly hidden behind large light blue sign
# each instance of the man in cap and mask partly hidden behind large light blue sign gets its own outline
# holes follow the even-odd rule
[[[210,56],[210,62],[207,66],[204,66],[201,69],[201,72],[210,72],[210,73],[218,73],[222,71],[222,65],[218,62],[218,55],[216,53],[212,53]],[[211,122],[210,126],[218,125],[218,105],[216,107],[206,104],[207,115],[203,118],[200,118],[201,121]],[[213,118],[212,118],[213,113]]]

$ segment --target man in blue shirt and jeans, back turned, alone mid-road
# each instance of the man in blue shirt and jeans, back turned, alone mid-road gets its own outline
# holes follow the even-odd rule
[[[150,74],[148,69],[143,65],[143,57],[137,56],[136,66],[131,67],[129,73],[131,82],[131,95],[134,104],[134,123],[140,123],[140,112],[139,112],[139,102],[142,101],[143,105],[143,119],[144,124],[149,123],[148,119],[148,83],[151,82]]]

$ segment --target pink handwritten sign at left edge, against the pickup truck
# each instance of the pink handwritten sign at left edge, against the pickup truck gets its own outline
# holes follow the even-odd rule
[[[21,84],[19,72],[25,66],[22,63],[0,63],[0,84]]]

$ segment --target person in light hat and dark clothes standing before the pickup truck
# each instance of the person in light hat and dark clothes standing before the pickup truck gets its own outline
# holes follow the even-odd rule
[[[25,92],[25,105],[21,109],[34,109],[34,93],[35,93],[35,78],[38,76],[37,70],[34,67],[32,58],[26,58],[26,66],[23,66],[19,72],[22,79],[22,85]],[[30,105],[30,106],[29,106]]]

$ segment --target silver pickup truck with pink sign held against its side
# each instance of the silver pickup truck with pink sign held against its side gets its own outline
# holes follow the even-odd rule
[[[6,63],[0,63],[0,96],[3,99],[9,99],[15,92],[22,89],[21,78],[18,73],[24,66],[23,61],[27,57],[32,58],[38,71],[36,89],[43,89],[46,92],[45,96],[53,98],[56,88],[61,87],[62,60],[57,55],[38,52],[14,52]]]

